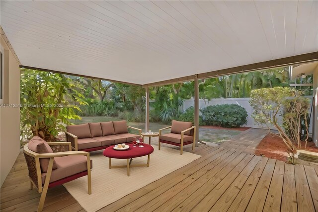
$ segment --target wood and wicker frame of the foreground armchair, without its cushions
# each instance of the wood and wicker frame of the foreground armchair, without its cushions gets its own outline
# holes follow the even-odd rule
[[[48,143],[51,149],[53,150],[53,153],[36,153],[31,151],[28,148],[28,144],[25,144],[23,153],[25,157],[25,161],[28,167],[29,171],[29,177],[31,181],[30,189],[33,189],[33,186],[35,186],[39,193],[41,194],[39,206],[38,206],[38,212],[41,212],[43,210],[45,197],[48,191],[48,188],[55,187],[58,185],[61,185],[63,183],[70,182],[72,180],[75,180],[79,177],[87,175],[87,182],[88,182],[88,194],[91,194],[91,175],[90,175],[90,169],[91,169],[91,161],[89,159],[89,153],[83,152],[83,151],[72,151],[71,143],[70,142],[50,142]],[[83,155],[87,157],[87,170],[81,171],[79,173],[73,174],[71,176],[63,177],[62,179],[57,178],[54,182],[52,181],[52,172],[56,173],[55,169],[52,171],[53,168],[53,162],[54,158],[57,157],[64,157],[64,156],[73,156],[73,155]],[[49,164],[47,172],[45,173],[45,180],[43,181],[43,172],[41,171],[40,167],[40,159],[41,158],[49,158]],[[61,158],[63,160],[63,158]],[[65,159],[65,158],[64,158]],[[69,159],[69,158],[68,158]],[[86,159],[84,159],[85,161]],[[83,162],[85,163],[85,162]],[[86,167],[86,165],[85,165]],[[67,168],[72,169],[72,166],[68,166]],[[54,175],[54,174],[53,174]]]

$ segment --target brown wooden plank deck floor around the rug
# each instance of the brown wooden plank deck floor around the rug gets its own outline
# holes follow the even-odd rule
[[[294,166],[250,154],[262,134],[241,133],[218,147],[200,144],[193,153],[201,158],[100,212],[318,211],[318,166]],[[185,151],[192,152],[190,146]],[[1,187],[1,211],[36,211],[40,194],[29,190],[29,184],[20,154]],[[44,211],[84,210],[58,186],[49,189]]]

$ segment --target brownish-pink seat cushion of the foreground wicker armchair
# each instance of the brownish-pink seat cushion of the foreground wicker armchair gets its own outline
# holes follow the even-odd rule
[[[87,157],[84,155],[69,155],[56,158],[57,169],[52,171],[50,183],[87,170]],[[90,160],[90,168],[92,168]],[[42,184],[45,182],[46,173],[42,173]]]

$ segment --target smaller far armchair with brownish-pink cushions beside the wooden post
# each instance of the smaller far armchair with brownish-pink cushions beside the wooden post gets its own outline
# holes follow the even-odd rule
[[[171,128],[170,133],[162,134],[162,130]],[[180,154],[183,153],[183,146],[192,143],[194,150],[195,143],[195,126],[191,122],[172,120],[171,126],[159,129],[159,150],[160,143],[180,146]]]

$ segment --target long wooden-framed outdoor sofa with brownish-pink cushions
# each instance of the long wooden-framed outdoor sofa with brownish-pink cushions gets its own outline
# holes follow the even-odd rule
[[[138,130],[139,135],[129,133],[128,128]],[[133,137],[140,137],[142,131],[127,126],[125,120],[68,125],[66,129],[66,141],[71,142],[72,149],[86,152],[105,149],[118,143],[132,142]]]

